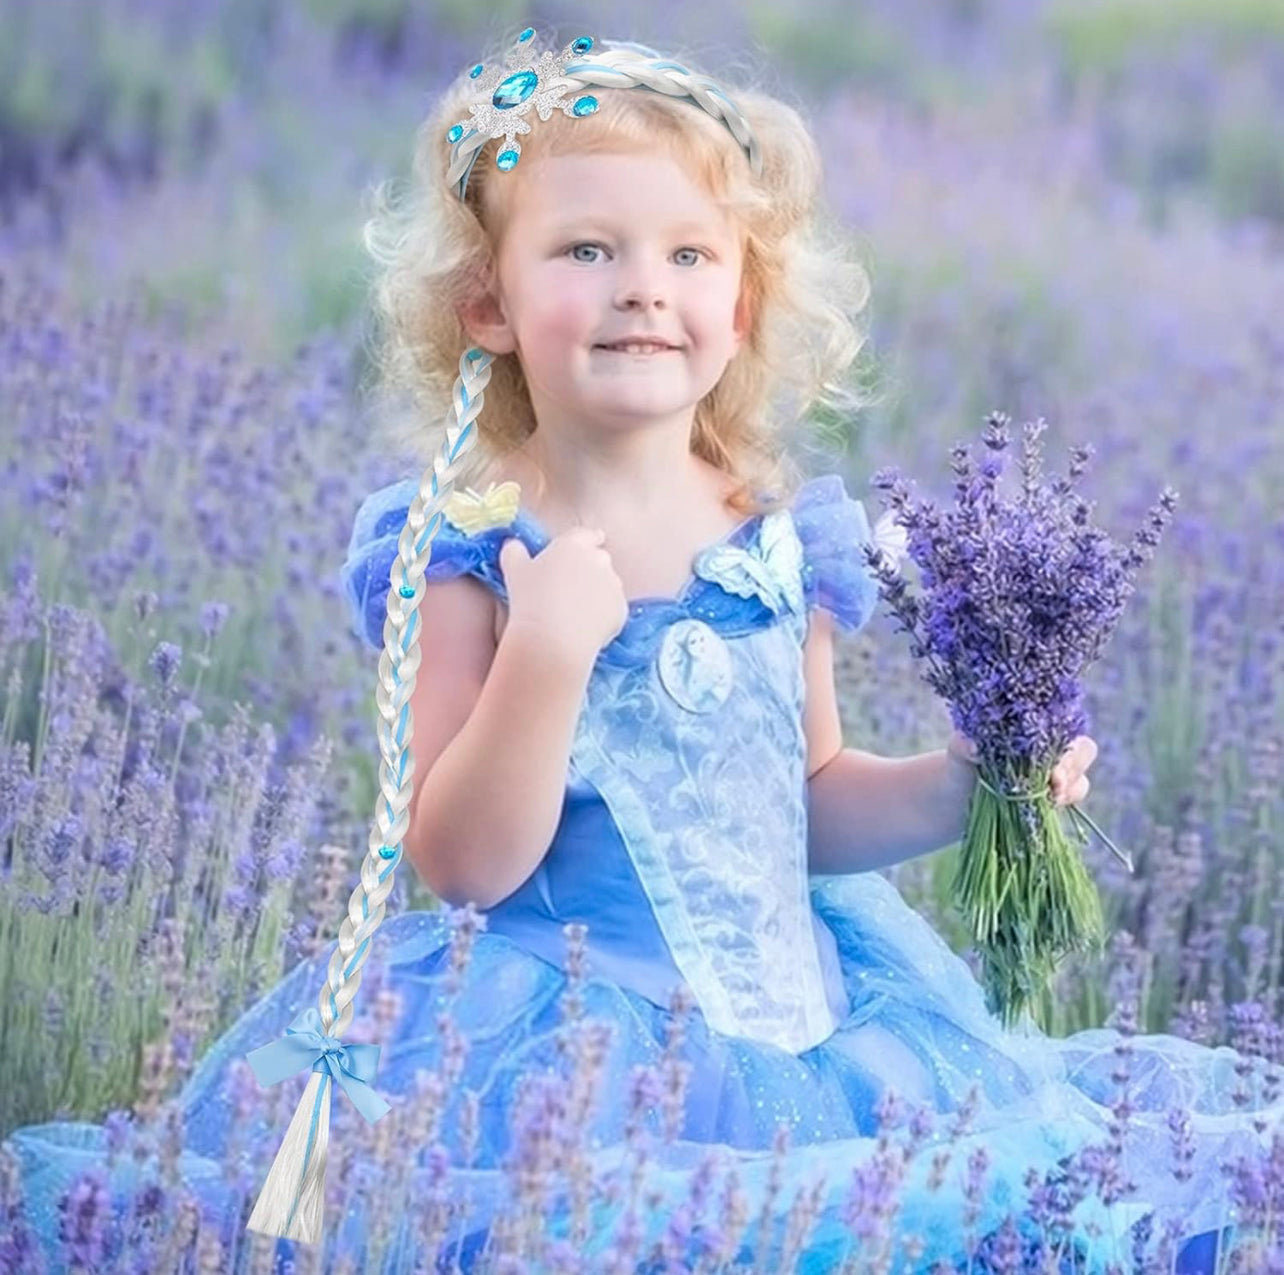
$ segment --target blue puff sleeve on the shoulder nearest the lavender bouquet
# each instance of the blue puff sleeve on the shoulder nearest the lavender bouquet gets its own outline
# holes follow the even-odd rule
[[[873,543],[864,505],[847,496],[840,475],[826,474],[802,484],[791,512],[802,543],[808,609],[824,607],[854,633],[878,605],[878,580],[862,548]]]

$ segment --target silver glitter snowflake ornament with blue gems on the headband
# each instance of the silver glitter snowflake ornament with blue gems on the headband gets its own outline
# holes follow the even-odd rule
[[[591,94],[579,98],[569,96],[575,87],[568,85],[566,64],[593,48],[592,36],[580,36],[566,45],[561,53],[544,51],[532,60],[533,50],[525,48],[534,36],[534,28],[524,31],[505,56],[505,67],[490,67],[478,83],[478,96],[469,105],[470,119],[461,119],[455,128],[460,137],[471,126],[464,153],[452,164],[464,171],[460,178],[460,195],[467,185],[467,172],[476,152],[487,141],[502,137],[505,145],[496,155],[496,167],[508,172],[521,157],[521,143],[517,137],[530,132],[528,116],[534,108],[541,119],[547,119],[553,110],[561,110],[568,117],[589,116],[597,109],[597,99]],[[470,76],[476,80],[482,74],[482,64],[473,68]],[[455,128],[451,132],[455,132]]]

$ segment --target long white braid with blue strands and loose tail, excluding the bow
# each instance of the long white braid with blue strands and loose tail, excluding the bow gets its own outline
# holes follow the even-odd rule
[[[361,864],[361,885],[348,899],[348,915],[339,927],[339,946],[330,957],[326,982],[317,996],[326,1037],[342,1036],[352,1023],[361,967],[370,950],[370,939],[384,919],[384,900],[393,889],[402,837],[410,826],[415,777],[410,752],[413,732],[410,697],[420,664],[419,603],[424,597],[424,570],[442,525],[442,507],[455,490],[456,480],[465,476],[464,460],[476,443],[475,421],[490,380],[492,361],[493,356],[480,348],[467,349],[461,356],[453,389],[457,425],[447,426],[442,449],[420,481],[397,541],[384,623],[385,645],[379,657],[375,691],[381,797]],[[392,851],[390,856],[385,851]],[[318,1070],[321,1066],[318,1061],[308,1077],[247,1230],[307,1243],[316,1243],[321,1236],[333,1088],[330,1070]]]

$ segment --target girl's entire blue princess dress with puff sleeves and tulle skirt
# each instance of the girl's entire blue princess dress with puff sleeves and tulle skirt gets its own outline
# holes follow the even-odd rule
[[[411,479],[367,497],[343,569],[356,630],[375,648],[383,643],[395,542],[413,492]],[[469,573],[506,602],[498,556],[510,535],[532,555],[548,543],[521,508],[503,525],[474,524],[471,532],[443,521],[428,579]],[[1148,1269],[1134,1265],[1134,1242],[1147,1233],[1158,1239],[1174,1219],[1186,1240],[1179,1271],[1211,1271],[1224,1227],[1228,1243],[1236,1215],[1220,1163],[1258,1156],[1284,1111],[1256,1090],[1247,1111],[1235,1103],[1240,1054],[1174,1036],[1132,1036],[1134,1111],[1118,1177],[1136,1190],[1112,1190],[1109,1181],[1094,1189],[1093,1174],[1109,1175],[1108,1161],[1093,1148],[1109,1141],[1112,1072],[1120,1062],[1113,1046],[1124,1037],[1104,1028],[1070,1039],[1032,1027],[1004,1030],[986,1010],[967,964],[885,877],[809,877],[808,614],[824,607],[849,632],[869,619],[877,587],[860,555],[869,535],[862,503],[838,476],[826,475],[806,483],[790,507],[750,517],[701,551],[677,597],[634,600],[625,627],[593,666],[552,845],[520,889],[483,913],[485,926],[453,996],[446,993],[446,913],[403,913],[377,932],[367,975],[377,964],[398,1005],[372,1036],[381,1046],[375,1086],[394,1108],[384,1121],[393,1121],[398,1107],[411,1113],[422,1103],[416,1073],[442,1064],[437,1016],[447,1004],[466,1041],[433,1135],[449,1150],[455,1189],[467,1190],[469,1221],[458,1227],[464,1269],[482,1269],[470,1262],[488,1229],[498,1230],[492,1222],[516,1189],[506,1176],[510,1154],[529,1145],[538,1125],[534,1117],[515,1120],[524,1077],[568,1073],[557,1049],[568,922],[588,927],[584,1014],[612,1028],[597,1104],[584,1123],[596,1183],[612,1174],[627,1183],[621,1148],[634,1068],[661,1061],[675,1017],[674,987],[684,985],[693,1002],[679,1016],[679,1057],[690,1072],[677,1139],[663,1135],[655,1111],[648,1117],[647,1247],[675,1219],[688,1217],[695,1225],[688,1225],[686,1252],[693,1262],[701,1220],[682,1207],[691,1208],[692,1171],[715,1147],[723,1172],[702,1221],[716,1226],[725,1170],[734,1167],[751,1219],[741,1262],[752,1263],[763,1234],[779,1244],[799,1192],[819,1184],[800,1271],[838,1270],[845,1254],[854,1269],[873,1269],[862,1265],[873,1248],[863,1236],[873,1213],[889,1204],[896,1208],[889,1271],[927,1272],[940,1261],[967,1270],[968,1249],[998,1233],[1009,1212],[1026,1265],[1002,1269],[1035,1270],[1040,1226],[1019,1216],[1031,1170],[1045,1204],[1059,1199],[1068,1211],[1070,1226],[1048,1231],[1049,1247],[1061,1239],[1063,1252],[1076,1254],[1073,1265],[1067,1256],[1063,1270],[1106,1271],[1112,1262],[1121,1271]],[[431,651],[422,657],[430,660]],[[244,1055],[316,1003],[331,950],[333,944],[299,964],[247,1012],[182,1093],[184,1171],[211,1202],[225,1189],[218,1168],[230,1153]],[[374,986],[362,986],[358,1013],[371,996]],[[478,1095],[470,1147],[461,1141],[467,1090]],[[933,1153],[957,1131],[969,1091],[971,1121],[954,1138],[944,1170],[937,1165],[933,1172]],[[895,1148],[909,1126],[891,1134],[892,1152],[878,1140],[889,1093],[903,1113],[919,1111],[926,1121],[918,1126],[922,1149],[903,1165]],[[656,1100],[652,1095],[652,1107]],[[1170,1122],[1174,1107],[1189,1113],[1183,1161]],[[345,1136],[335,1129],[360,1125],[349,1108],[335,1091],[333,1141]],[[1254,1129],[1253,1109],[1265,1132]],[[268,1149],[250,1166],[254,1192],[289,1111],[293,1099],[267,1130]],[[788,1145],[773,1180],[781,1125]],[[67,1180],[76,1154],[83,1165],[100,1148],[89,1134],[74,1150],[59,1145],[53,1132],[63,1127],[14,1136],[37,1197],[50,1197],[55,1183]],[[385,1149],[371,1167],[374,1180],[383,1175],[390,1183],[406,1159],[425,1149]],[[887,1165],[892,1177],[899,1172],[890,1199],[878,1186],[880,1165],[885,1179]],[[416,1266],[413,1233],[430,1192],[424,1179],[415,1181],[420,1185],[394,1221],[395,1242],[380,1249],[377,1263],[367,1256],[360,1269],[430,1269]],[[776,1229],[760,1233],[755,1220],[764,1201]],[[621,1208],[619,1198],[594,1204],[589,1238],[577,1245],[582,1254],[607,1252]],[[386,1229],[388,1219],[376,1224],[362,1211],[326,1217],[327,1231],[342,1227],[348,1244],[360,1245],[366,1227],[376,1225]],[[279,1253],[290,1244],[280,1240]],[[758,1256],[760,1269],[779,1269]]]

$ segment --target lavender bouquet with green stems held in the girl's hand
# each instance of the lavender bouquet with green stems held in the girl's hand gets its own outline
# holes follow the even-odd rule
[[[1071,451],[1066,478],[1041,480],[1040,419],[1023,428],[1019,496],[1004,498],[998,481],[1008,421],[1002,412],[986,417],[980,465],[967,446],[951,448],[953,508],[912,501],[896,470],[874,475],[905,529],[921,596],[909,594],[877,543],[865,547],[865,559],[880,597],[910,634],[924,681],[976,747],[977,785],[951,896],[981,955],[986,1003],[1011,1026],[1026,1013],[1041,1019],[1053,971],[1067,954],[1100,950],[1100,899],[1079,851],[1085,828],[1132,871],[1075,805],[1064,808],[1072,844],[1049,779],[1085,729],[1084,670],[1115,630],[1177,493],[1165,488],[1131,544],[1116,544],[1089,524],[1091,505],[1073,492],[1090,447]]]

